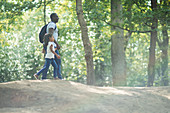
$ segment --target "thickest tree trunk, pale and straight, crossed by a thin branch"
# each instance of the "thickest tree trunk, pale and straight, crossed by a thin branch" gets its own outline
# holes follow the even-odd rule
[[[120,0],[111,0],[112,24],[121,25],[122,5]],[[124,53],[124,33],[122,29],[111,27],[111,60],[112,60],[112,82],[113,85],[126,85],[126,65]]]

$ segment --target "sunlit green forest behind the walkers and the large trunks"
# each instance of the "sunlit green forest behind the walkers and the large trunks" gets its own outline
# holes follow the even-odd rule
[[[122,14],[122,22],[113,25],[111,4],[114,1],[117,0],[84,0],[82,3],[93,51],[95,84],[113,85],[112,35],[119,34],[111,30],[115,27],[124,31],[126,85],[147,86],[150,63],[154,78],[151,85],[169,85],[170,1],[122,0],[119,4],[122,9],[116,12]],[[44,65],[38,34],[42,26],[50,22],[53,12],[60,18],[57,27],[62,76],[65,80],[87,83],[85,51],[74,0],[1,0],[0,82],[34,79],[33,74]],[[153,34],[155,42],[151,41]],[[52,71],[51,66],[48,78],[52,78]]]

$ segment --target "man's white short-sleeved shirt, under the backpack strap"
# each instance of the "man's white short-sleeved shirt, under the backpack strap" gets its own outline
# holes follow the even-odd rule
[[[48,23],[48,25],[47,25],[47,33],[49,33],[50,28],[54,29],[53,36],[54,36],[55,41],[57,41],[57,39],[58,39],[58,29],[57,29],[56,24],[54,22]],[[54,46],[56,46],[56,44],[54,44]]]

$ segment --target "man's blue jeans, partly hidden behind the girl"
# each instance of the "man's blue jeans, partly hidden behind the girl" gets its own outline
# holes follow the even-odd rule
[[[45,51],[47,50],[47,47],[44,46],[44,49]],[[58,55],[59,55],[59,52],[58,50],[55,51]],[[46,54],[46,52],[45,52]],[[55,56],[55,62],[57,64],[57,76],[59,79],[62,79],[62,76],[61,76],[61,59],[58,59],[56,56]],[[45,65],[44,65],[45,66]],[[52,65],[53,66],[53,65]],[[54,66],[53,66],[54,67]],[[48,67],[49,69],[49,67]],[[47,70],[48,70],[47,69]],[[43,74],[42,74],[42,79],[47,79],[47,71],[44,71]]]

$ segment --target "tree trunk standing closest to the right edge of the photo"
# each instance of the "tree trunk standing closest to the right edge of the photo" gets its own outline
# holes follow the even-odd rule
[[[169,79],[168,79],[168,46],[169,46],[169,37],[168,37],[168,2],[160,0],[159,5],[159,20],[162,25],[162,35],[163,38],[157,39],[158,45],[161,52],[161,69],[159,70],[161,76],[161,85],[168,86]]]

